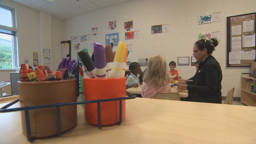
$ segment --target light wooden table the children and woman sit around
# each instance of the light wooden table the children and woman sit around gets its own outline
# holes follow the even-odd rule
[[[173,84],[173,83],[171,83],[171,84]],[[142,88],[142,85],[139,85],[138,88],[129,88],[126,91],[129,93],[133,93],[133,94],[141,94],[141,88]],[[186,90],[186,91],[178,92],[177,86],[174,86],[171,88],[171,93],[179,93],[180,97],[188,97],[188,91]]]

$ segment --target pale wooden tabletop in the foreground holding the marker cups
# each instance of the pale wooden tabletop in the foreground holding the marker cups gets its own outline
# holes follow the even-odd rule
[[[0,107],[12,100],[0,102]],[[19,104],[16,104],[16,106]],[[35,139],[38,144],[70,143],[255,143],[256,107],[135,98],[126,100],[121,125],[98,129],[85,122],[77,105],[77,125],[62,133]],[[20,112],[0,113],[0,143],[30,144],[22,134]]]

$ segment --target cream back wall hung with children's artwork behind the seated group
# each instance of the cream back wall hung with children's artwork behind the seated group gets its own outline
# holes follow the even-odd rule
[[[255,12],[255,8],[255,0],[132,0],[64,20],[62,35],[64,40],[70,40],[71,36],[89,34],[91,28],[99,27],[99,33],[91,36],[91,40],[80,42],[80,48],[89,49],[90,43],[94,42],[105,45],[105,34],[119,32],[119,41],[133,44],[134,51],[128,56],[133,62],[161,53],[167,63],[177,63],[177,57],[192,56],[193,45],[199,32],[221,31],[221,40],[213,56],[222,67],[222,95],[226,96],[228,89],[235,87],[234,96],[240,97],[240,75],[250,69],[225,68],[225,16]],[[198,25],[198,15],[205,12],[222,12],[221,22]],[[108,29],[108,21],[112,20],[117,21],[115,30]],[[131,31],[140,31],[138,39],[124,39],[123,23],[130,20],[133,20],[134,27]],[[170,31],[151,34],[151,26],[157,24],[169,24]],[[116,50],[116,47],[113,50]],[[72,43],[72,57],[76,55]],[[184,79],[195,73],[194,66],[178,66],[177,70]]]

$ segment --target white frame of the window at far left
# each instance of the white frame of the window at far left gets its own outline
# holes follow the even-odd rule
[[[15,9],[11,8],[9,6],[6,6],[2,3],[0,3],[0,7],[3,7],[5,9],[11,10],[11,20],[12,20],[12,27],[7,27],[0,25],[0,29],[9,30],[15,33],[15,35],[12,38],[12,62],[13,62],[13,69],[19,67],[18,65],[18,49],[17,49],[17,28],[16,28],[16,16],[15,16]],[[6,71],[6,70],[13,70],[13,69],[0,69],[0,71]]]

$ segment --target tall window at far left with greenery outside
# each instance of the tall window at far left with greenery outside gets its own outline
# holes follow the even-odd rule
[[[0,70],[18,67],[15,12],[0,4]]]

